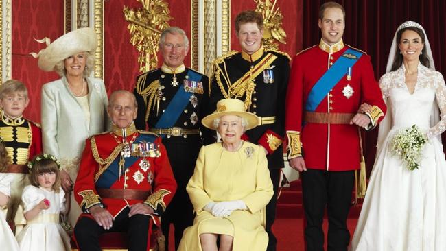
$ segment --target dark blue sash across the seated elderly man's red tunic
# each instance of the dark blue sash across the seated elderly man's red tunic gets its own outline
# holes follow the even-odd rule
[[[135,139],[134,142],[154,142],[155,136],[154,135],[143,135],[140,134],[137,139]],[[104,188],[109,189],[115,182],[117,182],[119,178],[119,160],[121,159],[121,154],[113,160],[113,163],[110,164],[110,166],[104,171],[104,173],[99,176],[97,179],[95,185],[97,188]],[[130,156],[128,158],[125,158],[124,163],[124,170],[126,171],[129,167],[131,167],[135,162],[139,160],[138,156]],[[123,175],[121,175],[121,178],[124,178]]]

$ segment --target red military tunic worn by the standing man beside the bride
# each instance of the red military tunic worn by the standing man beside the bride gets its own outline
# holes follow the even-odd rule
[[[319,46],[294,56],[286,97],[288,157],[303,156],[305,165],[310,169],[349,171],[360,168],[357,125],[305,123],[303,126],[303,113],[310,91],[347,49],[352,48],[345,46],[342,40],[331,47],[321,40]],[[351,67],[349,78],[346,71],[314,112],[355,114],[361,104],[367,103],[373,106],[373,112],[366,114],[371,118],[371,127],[375,127],[386,112],[386,106],[368,55],[364,53]]]

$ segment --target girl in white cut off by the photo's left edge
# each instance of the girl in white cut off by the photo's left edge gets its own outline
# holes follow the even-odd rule
[[[8,204],[11,191],[12,174],[3,174],[2,171],[6,171],[10,158],[5,150],[5,145],[0,138],[0,209],[5,208]],[[6,222],[6,215],[0,210],[0,245],[1,250],[17,251],[19,245],[17,245],[16,238],[12,233],[12,230]]]

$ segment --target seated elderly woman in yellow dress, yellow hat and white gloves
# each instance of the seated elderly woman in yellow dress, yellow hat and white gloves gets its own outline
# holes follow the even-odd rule
[[[202,124],[222,142],[200,150],[186,187],[197,215],[178,250],[266,250],[263,208],[273,193],[268,161],[262,147],[241,139],[259,118],[244,111],[243,101],[222,99]]]

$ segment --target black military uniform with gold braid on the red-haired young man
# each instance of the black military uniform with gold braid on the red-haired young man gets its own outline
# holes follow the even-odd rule
[[[261,117],[261,125],[246,131],[242,139],[260,144],[268,150],[268,168],[274,186],[274,195],[266,206],[268,250],[275,250],[277,243],[271,226],[276,217],[277,189],[283,167],[285,93],[289,73],[290,56],[286,53],[264,51],[263,47],[251,55],[244,51],[231,51],[215,60],[209,87],[209,107],[215,107],[217,101],[223,98],[237,98],[245,102],[247,111]],[[212,137],[206,136],[205,140],[210,143]]]

